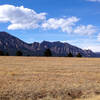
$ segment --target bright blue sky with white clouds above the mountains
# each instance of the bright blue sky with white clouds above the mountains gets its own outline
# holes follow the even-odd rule
[[[0,0],[0,31],[100,52],[100,0]]]

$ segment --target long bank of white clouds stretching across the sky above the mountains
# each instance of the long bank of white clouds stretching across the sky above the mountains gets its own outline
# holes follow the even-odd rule
[[[93,0],[92,0],[93,1]],[[8,30],[17,29],[36,29],[57,30],[62,32],[91,35],[96,33],[96,28],[93,25],[79,25],[79,18],[72,16],[69,18],[46,18],[45,12],[37,13],[33,9],[24,8],[23,6],[16,7],[14,5],[0,6],[0,22],[10,23]]]

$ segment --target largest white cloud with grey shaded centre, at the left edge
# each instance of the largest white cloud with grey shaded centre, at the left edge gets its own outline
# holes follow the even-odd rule
[[[32,9],[15,7],[13,5],[0,6],[0,22],[10,22],[9,30],[34,29],[46,19],[46,13],[36,13]]]

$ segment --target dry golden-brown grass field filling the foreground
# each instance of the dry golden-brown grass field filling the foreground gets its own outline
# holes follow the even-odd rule
[[[0,57],[0,100],[100,100],[99,58]]]

